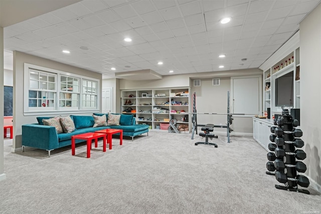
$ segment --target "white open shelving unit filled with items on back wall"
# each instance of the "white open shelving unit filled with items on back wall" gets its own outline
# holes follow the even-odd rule
[[[122,90],[121,112],[133,114],[137,124],[148,124],[151,129],[160,129],[176,119],[178,125],[185,125],[190,131],[189,91],[189,88]]]

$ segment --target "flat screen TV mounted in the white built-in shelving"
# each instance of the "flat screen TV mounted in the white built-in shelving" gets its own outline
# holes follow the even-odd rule
[[[293,106],[293,71],[275,79],[275,106]]]

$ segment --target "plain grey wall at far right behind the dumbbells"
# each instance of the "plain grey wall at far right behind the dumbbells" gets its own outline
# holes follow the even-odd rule
[[[300,125],[305,172],[321,191],[321,5],[300,24]]]

